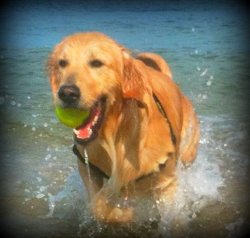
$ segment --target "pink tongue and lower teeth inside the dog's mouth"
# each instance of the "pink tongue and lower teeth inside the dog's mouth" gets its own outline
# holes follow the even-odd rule
[[[82,126],[75,128],[73,131],[77,138],[79,139],[88,139],[92,135],[93,131],[92,128],[98,121],[99,115],[100,115],[100,109],[95,108],[87,120],[86,123],[84,123]]]

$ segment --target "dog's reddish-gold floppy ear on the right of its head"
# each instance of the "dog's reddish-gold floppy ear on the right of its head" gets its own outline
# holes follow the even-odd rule
[[[123,97],[142,102],[143,95],[147,88],[145,73],[138,65],[138,62],[136,62],[127,52],[123,52],[123,59]]]

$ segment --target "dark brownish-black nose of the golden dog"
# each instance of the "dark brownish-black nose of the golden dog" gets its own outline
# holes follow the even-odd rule
[[[80,89],[74,84],[62,85],[58,97],[66,104],[75,103],[80,98]]]

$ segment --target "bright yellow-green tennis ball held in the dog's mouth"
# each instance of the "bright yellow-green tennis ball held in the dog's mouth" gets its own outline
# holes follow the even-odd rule
[[[55,112],[59,121],[71,128],[76,128],[82,125],[90,114],[89,111],[62,107],[56,107]]]

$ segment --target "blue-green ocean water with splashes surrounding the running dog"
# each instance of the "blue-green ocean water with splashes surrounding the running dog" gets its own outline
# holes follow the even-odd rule
[[[6,7],[0,29],[1,222],[10,237],[247,232],[249,23],[240,5],[193,3]],[[54,45],[79,31],[102,31],[134,52],[162,55],[196,108],[202,128],[197,159],[188,169],[178,165],[175,205],[161,207],[157,222],[149,213],[148,223],[114,227],[89,214],[72,131],[55,118],[46,74]]]

